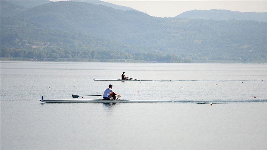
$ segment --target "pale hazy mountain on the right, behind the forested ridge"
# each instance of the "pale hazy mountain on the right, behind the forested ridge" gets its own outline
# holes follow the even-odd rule
[[[231,10],[190,10],[177,15],[175,18],[213,19],[213,20],[256,20],[267,21],[267,12],[239,12]]]

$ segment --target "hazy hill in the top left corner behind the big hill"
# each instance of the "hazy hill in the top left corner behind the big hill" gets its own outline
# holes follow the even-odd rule
[[[0,1],[0,13],[1,16],[9,17],[17,15],[25,10],[33,8],[35,6],[50,3],[49,0],[1,0]]]

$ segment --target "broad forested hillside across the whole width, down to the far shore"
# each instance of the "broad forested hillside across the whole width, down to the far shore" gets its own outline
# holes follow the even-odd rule
[[[1,57],[267,60],[267,22],[152,17],[86,2],[1,14]]]

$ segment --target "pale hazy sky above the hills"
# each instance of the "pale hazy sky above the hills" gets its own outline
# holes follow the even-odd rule
[[[127,6],[156,17],[175,17],[188,10],[226,9],[240,12],[267,12],[267,0],[263,1],[176,1],[176,0],[103,0]]]

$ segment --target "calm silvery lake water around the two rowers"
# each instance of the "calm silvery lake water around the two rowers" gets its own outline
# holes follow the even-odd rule
[[[175,81],[93,81],[119,79],[123,71],[139,80]],[[1,61],[0,75],[1,149],[267,146],[267,64]],[[71,94],[103,94],[109,84],[123,99],[176,102],[38,101],[41,96],[71,99]]]

